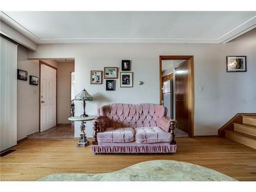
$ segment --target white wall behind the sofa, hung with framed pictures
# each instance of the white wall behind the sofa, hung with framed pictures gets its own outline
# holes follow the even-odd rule
[[[75,58],[75,93],[86,89],[94,96],[87,113],[97,114],[105,103],[159,103],[159,55],[194,55],[195,135],[217,135],[218,129],[237,113],[256,112],[256,29],[227,44],[52,44],[38,45],[29,58]],[[227,55],[246,55],[246,73],[227,73]],[[121,67],[122,59],[132,60],[134,88],[105,91],[90,84],[90,70]],[[138,81],[143,81],[142,86]],[[204,91],[199,91],[199,86]],[[76,115],[82,113],[76,102]],[[92,137],[92,123],[86,134]],[[79,136],[76,123],[75,137]]]

